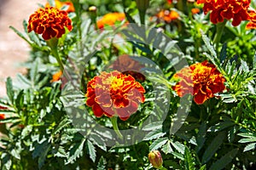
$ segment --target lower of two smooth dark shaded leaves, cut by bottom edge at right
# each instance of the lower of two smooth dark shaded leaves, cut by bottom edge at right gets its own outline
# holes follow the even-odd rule
[[[218,161],[212,164],[210,170],[220,170],[226,167],[236,156],[239,149],[234,149],[228,152],[226,155],[222,156]]]

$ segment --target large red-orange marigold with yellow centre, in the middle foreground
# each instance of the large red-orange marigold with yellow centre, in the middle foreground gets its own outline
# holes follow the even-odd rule
[[[119,116],[125,121],[145,101],[144,93],[143,86],[130,75],[103,71],[88,82],[86,105],[92,107],[96,117]]]

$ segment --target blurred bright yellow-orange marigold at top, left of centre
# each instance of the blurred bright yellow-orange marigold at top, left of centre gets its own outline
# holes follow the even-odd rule
[[[117,21],[125,20],[124,13],[108,13],[105,14],[102,19],[97,20],[97,26],[99,29],[104,28],[104,26],[114,26]]]

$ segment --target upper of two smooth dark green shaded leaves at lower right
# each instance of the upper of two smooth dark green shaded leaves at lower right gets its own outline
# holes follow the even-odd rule
[[[215,152],[218,150],[218,147],[222,144],[225,138],[225,132],[218,133],[218,135],[212,140],[212,143],[207,146],[207,150],[202,156],[202,163],[205,164],[209,161]]]

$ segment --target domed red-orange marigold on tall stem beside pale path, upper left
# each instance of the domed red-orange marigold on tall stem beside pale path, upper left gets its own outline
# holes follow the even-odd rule
[[[67,12],[54,7],[39,8],[28,20],[28,32],[43,34],[44,40],[60,38],[65,34],[65,27],[71,31],[73,26]]]

